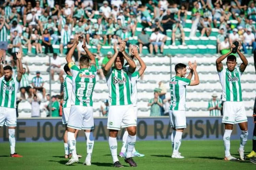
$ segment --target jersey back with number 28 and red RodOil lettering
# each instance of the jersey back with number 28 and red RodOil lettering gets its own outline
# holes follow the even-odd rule
[[[73,62],[69,63],[72,73],[71,105],[93,106],[93,90],[96,83],[96,67],[79,69]]]

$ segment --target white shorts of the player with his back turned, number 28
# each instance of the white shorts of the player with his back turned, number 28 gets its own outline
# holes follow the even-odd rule
[[[78,130],[93,130],[93,107],[72,105],[67,126]]]

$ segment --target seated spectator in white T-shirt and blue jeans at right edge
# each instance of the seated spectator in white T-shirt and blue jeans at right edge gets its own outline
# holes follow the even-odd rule
[[[255,35],[252,33],[251,28],[248,28],[247,31],[243,34],[243,50],[245,54],[247,54],[246,47],[252,47],[252,53],[256,48]]]

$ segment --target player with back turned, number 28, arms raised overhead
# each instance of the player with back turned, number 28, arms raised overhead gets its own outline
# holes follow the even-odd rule
[[[72,158],[66,165],[71,165],[77,163],[78,157],[76,154],[76,139],[75,131],[83,129],[86,136],[87,144],[87,156],[84,161],[84,165],[91,165],[91,154],[93,152],[94,138],[94,118],[93,118],[93,90],[96,83],[96,66],[95,57],[88,50],[85,44],[82,48],[85,50],[87,56],[81,56],[79,59],[80,69],[72,61],[71,57],[76,49],[77,44],[79,44],[79,39],[82,36],[77,36],[73,47],[70,49],[66,56],[70,72],[72,74],[72,99],[71,99],[71,109],[68,120],[68,145],[72,152]]]

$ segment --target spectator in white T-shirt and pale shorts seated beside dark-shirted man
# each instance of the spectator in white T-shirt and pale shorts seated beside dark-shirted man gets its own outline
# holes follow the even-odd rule
[[[151,34],[150,41],[154,46],[155,53],[158,53],[158,47],[160,47],[160,53],[163,53],[163,46],[165,45],[166,38],[167,36],[159,33],[158,29],[155,29],[155,31]],[[150,46],[150,54],[153,54],[153,46]]]

